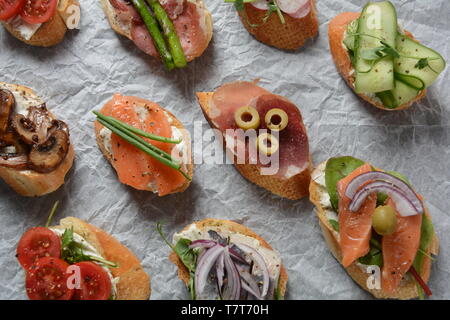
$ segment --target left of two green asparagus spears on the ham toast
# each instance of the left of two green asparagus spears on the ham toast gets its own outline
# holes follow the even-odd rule
[[[145,26],[147,27],[148,32],[155,43],[156,50],[158,50],[159,55],[164,62],[164,65],[168,70],[172,70],[175,67],[175,64],[170,51],[167,49],[167,45],[161,31],[159,30],[158,22],[150,13],[150,9],[145,5],[144,0],[131,0],[131,2],[144,21]]]

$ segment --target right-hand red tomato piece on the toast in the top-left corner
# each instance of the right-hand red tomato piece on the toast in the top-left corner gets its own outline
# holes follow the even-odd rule
[[[56,12],[58,0],[26,0],[20,16],[31,24],[44,23]]]

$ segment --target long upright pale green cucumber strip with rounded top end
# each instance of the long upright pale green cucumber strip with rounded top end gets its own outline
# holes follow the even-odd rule
[[[365,60],[362,50],[380,47],[381,39],[395,47],[397,12],[389,1],[369,2],[358,21],[355,41],[355,91],[376,93],[394,88],[394,62],[389,56],[378,60]]]

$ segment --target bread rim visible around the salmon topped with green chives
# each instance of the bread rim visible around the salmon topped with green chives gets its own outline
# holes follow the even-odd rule
[[[152,102],[149,101],[149,104],[151,104],[151,103]],[[176,128],[180,129],[183,133],[183,140],[186,141],[186,150],[188,152],[188,155],[185,158],[189,159],[188,163],[186,164],[186,172],[190,177],[193,177],[194,164],[193,164],[193,160],[192,160],[191,137],[189,135],[189,132],[184,128],[184,126],[180,122],[180,120],[178,120],[170,111],[162,108],[161,106],[160,106],[160,108],[163,109],[167,113],[167,115],[172,118],[173,122],[171,123],[171,126],[175,126]],[[107,147],[104,144],[104,140],[102,139],[102,136],[100,134],[100,131],[103,128],[104,127],[98,121],[95,121],[94,129],[95,129],[95,138],[96,138],[97,144],[98,144],[100,150],[102,151],[103,155],[105,156],[105,158],[108,160],[108,162],[112,166],[113,161],[114,161],[113,154],[108,151]],[[181,185],[179,188],[174,190],[172,193],[183,192],[184,190],[186,190],[189,187],[190,184],[191,184],[191,181],[186,180],[183,185]],[[149,185],[148,189],[146,191],[157,192],[157,190],[152,185]]]

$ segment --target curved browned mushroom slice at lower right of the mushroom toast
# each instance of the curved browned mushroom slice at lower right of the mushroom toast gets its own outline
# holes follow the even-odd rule
[[[34,145],[28,158],[31,169],[47,173],[55,170],[69,151],[69,136],[63,130],[55,130],[47,141]]]

